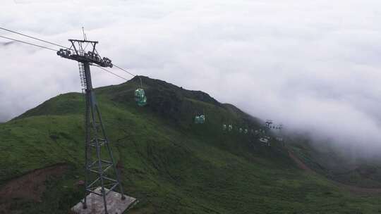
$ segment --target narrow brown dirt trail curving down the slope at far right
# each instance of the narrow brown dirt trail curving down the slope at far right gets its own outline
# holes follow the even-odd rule
[[[306,170],[307,172],[319,175],[317,172],[315,172],[314,170],[309,168],[308,165],[306,165],[301,160],[299,160],[299,158],[296,157],[294,155],[294,153],[292,153],[291,151],[289,151],[289,156],[292,160],[294,160],[296,165],[298,165],[298,167],[301,168],[302,170]],[[367,194],[367,195],[369,195],[369,194],[381,194],[381,188],[363,188],[363,187],[356,187],[356,186],[351,186],[351,185],[347,185],[347,184],[342,184],[342,183],[336,182],[334,180],[330,180],[330,181],[332,183],[334,183],[335,185],[337,185],[338,187],[341,187],[341,189],[346,189],[346,190],[349,190],[349,191],[356,193],[356,194]]]

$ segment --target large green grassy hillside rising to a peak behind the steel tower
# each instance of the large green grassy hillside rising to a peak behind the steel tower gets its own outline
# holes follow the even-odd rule
[[[257,130],[257,118],[142,79],[144,107],[136,77],[96,89],[124,189],[140,201],[128,213],[381,213],[380,195],[300,170],[281,144],[222,130]],[[68,213],[83,198],[84,105],[82,94],[61,94],[0,124],[0,213]],[[205,124],[193,122],[200,113]]]

